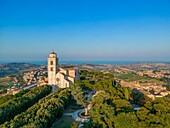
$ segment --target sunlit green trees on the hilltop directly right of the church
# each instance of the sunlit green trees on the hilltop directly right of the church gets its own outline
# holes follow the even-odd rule
[[[81,80],[79,83],[79,86],[83,89],[96,91],[104,90],[112,93],[112,95],[118,95],[121,98],[126,98],[127,100],[130,97],[130,89],[122,88],[120,84],[116,83],[113,74],[82,70],[81,77],[85,77],[85,79]]]

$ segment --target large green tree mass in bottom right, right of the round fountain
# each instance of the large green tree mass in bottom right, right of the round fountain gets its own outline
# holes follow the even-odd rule
[[[126,99],[113,97],[106,92],[98,93],[92,100],[91,120],[86,127],[170,127],[170,99],[157,98],[148,101],[134,111]]]

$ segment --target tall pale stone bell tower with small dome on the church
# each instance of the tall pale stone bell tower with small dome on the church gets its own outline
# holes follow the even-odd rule
[[[58,58],[55,52],[51,52],[48,58],[48,85],[56,85],[58,72]]]

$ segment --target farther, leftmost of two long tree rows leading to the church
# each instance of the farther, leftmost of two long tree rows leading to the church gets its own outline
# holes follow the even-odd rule
[[[11,120],[17,114],[25,111],[35,104],[39,99],[43,98],[51,92],[52,87],[45,85],[35,87],[21,97],[12,98],[11,100],[0,105],[0,124]],[[18,94],[20,95],[20,94]]]

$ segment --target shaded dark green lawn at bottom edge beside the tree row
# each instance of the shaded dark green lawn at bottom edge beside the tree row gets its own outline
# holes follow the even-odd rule
[[[62,116],[57,119],[51,128],[71,128],[73,119],[71,116]]]

